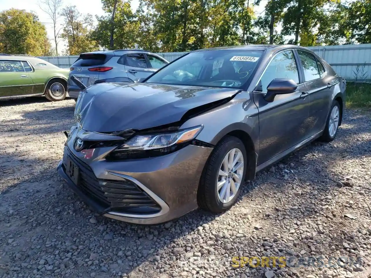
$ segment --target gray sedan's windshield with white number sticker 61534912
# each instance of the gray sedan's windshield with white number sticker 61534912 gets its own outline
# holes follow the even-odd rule
[[[249,80],[262,54],[262,50],[192,52],[158,70],[146,82],[240,89]]]

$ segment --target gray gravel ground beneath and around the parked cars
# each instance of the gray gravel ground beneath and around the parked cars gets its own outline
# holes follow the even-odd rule
[[[262,171],[222,215],[139,226],[94,215],[58,177],[74,105],[1,103],[1,278],[371,277],[369,112],[347,111],[336,140]],[[233,256],[288,261],[238,267]],[[325,265],[304,265],[315,257]]]

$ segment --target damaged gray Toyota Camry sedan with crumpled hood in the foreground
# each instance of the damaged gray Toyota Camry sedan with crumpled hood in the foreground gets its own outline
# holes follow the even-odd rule
[[[196,50],[138,83],[82,85],[58,172],[109,218],[218,214],[257,171],[335,138],[345,86],[304,47]]]

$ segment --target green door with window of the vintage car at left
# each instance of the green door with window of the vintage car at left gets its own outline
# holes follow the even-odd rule
[[[22,61],[0,60],[0,97],[30,95],[32,86]]]

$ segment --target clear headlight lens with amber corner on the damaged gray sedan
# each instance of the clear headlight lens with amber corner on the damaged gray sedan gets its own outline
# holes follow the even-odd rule
[[[178,130],[173,133],[162,133],[154,135],[137,135],[129,139],[115,151],[131,150],[154,150],[168,148],[174,145],[185,143],[196,138],[203,126]]]

